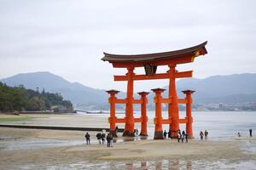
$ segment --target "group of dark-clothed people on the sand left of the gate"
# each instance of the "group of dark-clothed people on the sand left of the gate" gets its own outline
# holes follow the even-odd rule
[[[90,144],[90,134],[85,133],[84,137],[86,139],[86,144]],[[104,144],[105,140],[107,139],[107,147],[113,147],[113,135],[111,133],[108,133],[107,137],[106,131],[102,131],[102,133],[96,133],[96,139],[98,139],[99,144]]]

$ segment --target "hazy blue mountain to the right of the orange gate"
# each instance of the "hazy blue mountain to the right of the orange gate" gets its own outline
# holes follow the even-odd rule
[[[183,97],[181,91],[184,89],[195,90],[193,98],[198,104],[256,102],[256,74],[188,78],[177,81],[177,94],[180,97]]]

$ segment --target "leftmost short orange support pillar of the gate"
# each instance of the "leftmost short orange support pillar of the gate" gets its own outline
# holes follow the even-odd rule
[[[110,123],[109,133],[111,133],[113,137],[117,137],[117,134],[115,132],[115,123],[117,120],[117,117],[115,116],[115,94],[118,94],[119,91],[108,90],[107,92],[110,95],[108,99],[108,102],[110,104],[110,117],[108,118],[108,122]]]

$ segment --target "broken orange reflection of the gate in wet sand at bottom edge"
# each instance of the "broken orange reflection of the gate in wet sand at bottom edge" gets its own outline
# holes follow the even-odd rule
[[[192,169],[192,162],[191,161],[178,161],[175,160],[163,160],[163,161],[140,161],[140,167],[137,167],[137,162],[129,162],[125,164],[126,170],[132,170],[132,169],[151,169],[152,167],[155,167],[156,170],[161,169],[169,169],[169,170],[177,170],[179,167],[185,167],[186,170]],[[183,169],[183,168],[182,168]]]

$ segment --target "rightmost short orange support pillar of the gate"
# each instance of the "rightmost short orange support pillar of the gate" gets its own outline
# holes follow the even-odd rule
[[[191,116],[191,105],[192,105],[191,95],[194,92],[195,91],[192,91],[192,90],[183,91],[183,94],[186,94],[186,100],[187,100],[187,102],[186,102],[186,119],[187,119],[186,131],[188,133],[189,138],[193,138],[193,129],[192,129],[193,117]]]

